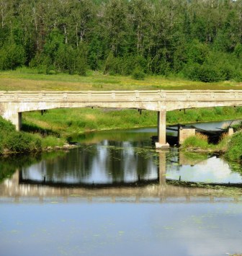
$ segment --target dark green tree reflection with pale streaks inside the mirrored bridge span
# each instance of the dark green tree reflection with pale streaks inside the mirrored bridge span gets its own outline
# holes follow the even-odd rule
[[[123,182],[145,179],[145,175],[156,170],[153,154],[136,149],[142,147],[140,141],[102,141],[91,146],[81,146],[64,156],[47,159],[23,169],[23,178],[45,177],[47,182]],[[35,172],[35,173],[34,173]],[[99,182],[97,181],[97,182]]]

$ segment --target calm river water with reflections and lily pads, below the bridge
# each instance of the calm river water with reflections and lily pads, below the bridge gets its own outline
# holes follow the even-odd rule
[[[218,126],[218,124],[216,124]],[[0,255],[242,253],[242,168],[151,147],[153,128],[86,133],[69,151],[0,159]]]

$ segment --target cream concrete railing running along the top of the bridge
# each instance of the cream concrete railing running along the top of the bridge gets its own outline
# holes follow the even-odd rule
[[[240,90],[144,91],[13,91],[0,92],[0,102],[132,102],[242,100]]]

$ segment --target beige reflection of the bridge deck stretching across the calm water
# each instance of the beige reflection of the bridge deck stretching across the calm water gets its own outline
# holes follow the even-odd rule
[[[74,202],[160,202],[160,203],[219,203],[242,202],[240,196],[225,197],[223,190],[201,187],[179,187],[153,184],[144,187],[105,187],[86,189],[84,187],[50,187],[19,183],[19,170],[12,178],[0,184],[0,200],[23,203]]]

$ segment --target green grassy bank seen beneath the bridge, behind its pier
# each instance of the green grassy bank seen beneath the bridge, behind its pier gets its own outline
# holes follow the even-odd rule
[[[195,123],[215,120],[242,119],[242,107],[214,107],[167,112],[166,123]],[[25,131],[47,133],[67,138],[91,130],[133,128],[157,124],[157,114],[143,110],[112,110],[102,108],[57,109],[40,112],[24,112]]]

